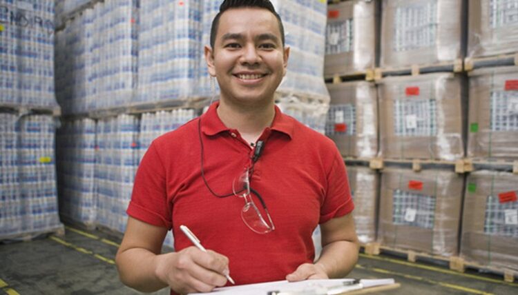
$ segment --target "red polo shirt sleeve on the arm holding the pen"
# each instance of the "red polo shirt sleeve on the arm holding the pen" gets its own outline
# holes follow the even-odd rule
[[[137,170],[129,216],[160,227],[171,228],[171,208],[167,202],[166,170],[153,143]]]

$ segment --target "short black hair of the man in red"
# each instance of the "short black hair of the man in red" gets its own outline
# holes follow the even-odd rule
[[[269,12],[273,13],[279,23],[280,38],[282,40],[282,46],[285,45],[284,26],[282,26],[282,20],[280,19],[279,14],[275,11],[274,5],[271,4],[271,2],[269,0],[224,0],[220,6],[220,12],[218,12],[218,14],[216,14],[216,16],[214,17],[214,19],[212,21],[211,48],[214,48],[215,35],[218,32],[218,26],[220,24],[221,14],[223,14],[223,12],[225,12],[231,8],[240,8],[240,7],[264,8],[264,9],[267,9]]]

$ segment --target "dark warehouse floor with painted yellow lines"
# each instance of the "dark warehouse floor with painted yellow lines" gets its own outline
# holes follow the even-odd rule
[[[66,227],[65,236],[0,245],[0,294],[140,294],[119,282],[118,236]],[[401,287],[383,294],[518,294],[501,276],[361,254],[352,278],[394,278]],[[169,294],[163,289],[154,294]]]

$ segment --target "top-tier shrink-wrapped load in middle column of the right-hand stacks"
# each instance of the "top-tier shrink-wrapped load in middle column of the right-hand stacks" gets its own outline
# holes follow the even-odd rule
[[[381,68],[461,59],[463,1],[383,0]]]

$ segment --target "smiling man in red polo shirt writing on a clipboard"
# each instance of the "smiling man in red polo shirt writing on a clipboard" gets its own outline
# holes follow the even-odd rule
[[[226,285],[229,274],[238,285],[345,276],[358,258],[345,165],[332,141],[274,105],[289,48],[271,3],[224,1],[205,57],[220,101],[142,159],[116,257],[121,280],[183,294]],[[169,229],[176,251],[160,254]]]

